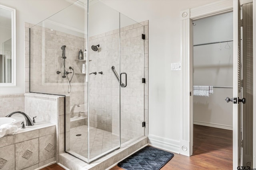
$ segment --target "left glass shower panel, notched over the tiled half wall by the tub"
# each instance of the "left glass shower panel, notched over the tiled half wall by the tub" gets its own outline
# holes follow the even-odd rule
[[[30,27],[30,92],[66,95],[65,134],[59,135],[66,138],[65,151],[86,162],[88,82],[79,51],[87,50],[87,13],[87,3],[78,1]]]

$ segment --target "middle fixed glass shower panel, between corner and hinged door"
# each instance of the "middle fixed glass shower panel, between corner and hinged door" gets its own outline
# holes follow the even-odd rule
[[[97,0],[89,2],[90,161],[120,147],[119,12]],[[118,76],[118,75],[117,75]]]

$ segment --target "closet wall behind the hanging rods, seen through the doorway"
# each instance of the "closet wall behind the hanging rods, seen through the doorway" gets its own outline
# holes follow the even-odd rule
[[[233,13],[194,21],[194,45],[233,39]],[[233,42],[194,47],[194,85],[233,86]],[[209,97],[194,96],[194,124],[232,130],[232,88],[214,88]]]

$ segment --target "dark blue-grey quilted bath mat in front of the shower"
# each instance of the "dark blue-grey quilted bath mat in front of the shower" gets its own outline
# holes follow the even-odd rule
[[[173,153],[153,147],[145,147],[117,165],[125,170],[159,170],[172,157]]]

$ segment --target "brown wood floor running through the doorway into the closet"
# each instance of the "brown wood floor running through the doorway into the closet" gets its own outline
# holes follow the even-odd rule
[[[188,157],[175,154],[161,170],[232,169],[232,131],[194,125],[194,152]],[[42,170],[64,170],[53,164]],[[123,170],[115,166],[110,170]]]

